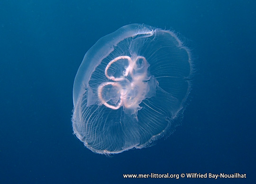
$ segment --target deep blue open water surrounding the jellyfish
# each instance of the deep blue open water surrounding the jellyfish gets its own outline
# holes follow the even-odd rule
[[[98,39],[131,23],[180,35],[192,92],[173,135],[107,157],[73,135],[73,80]],[[1,0],[0,183],[256,182],[255,43],[255,0]],[[123,178],[151,173],[247,178]]]

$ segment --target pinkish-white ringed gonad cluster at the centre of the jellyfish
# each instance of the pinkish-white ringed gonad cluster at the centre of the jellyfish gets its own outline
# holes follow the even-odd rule
[[[117,61],[128,60],[128,66],[123,71],[120,77],[110,76],[108,70],[111,65]],[[119,63],[120,65],[123,63]],[[105,76],[114,82],[104,82],[98,87],[98,97],[101,103],[111,109],[119,109],[121,106],[124,108],[137,108],[146,95],[146,82],[148,80],[147,68],[149,64],[143,56],[134,57],[133,60],[129,56],[119,56],[108,63],[105,69]],[[113,67],[112,67],[113,68]],[[129,79],[128,79],[129,77]],[[104,99],[102,93],[106,86],[118,88],[117,93],[119,100],[117,104],[110,104],[107,99]],[[111,90],[108,88],[108,90]],[[109,99],[110,100],[110,99]]]

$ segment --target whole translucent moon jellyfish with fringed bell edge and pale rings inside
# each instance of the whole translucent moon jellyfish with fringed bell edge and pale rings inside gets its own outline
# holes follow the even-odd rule
[[[151,146],[181,124],[191,54],[172,31],[131,24],[85,54],[73,86],[73,131],[93,152]]]

